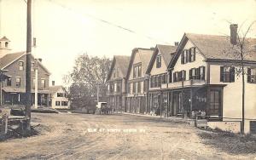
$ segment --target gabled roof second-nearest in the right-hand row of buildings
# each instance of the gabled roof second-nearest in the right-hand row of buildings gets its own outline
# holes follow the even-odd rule
[[[152,70],[152,67],[154,66],[154,61],[159,52],[161,53],[166,66],[168,66],[170,61],[172,60],[172,57],[173,57],[176,49],[177,49],[177,46],[156,44],[155,49],[154,49],[154,54],[151,57],[151,60],[148,65],[148,70],[146,71],[146,73],[149,74],[150,71]]]

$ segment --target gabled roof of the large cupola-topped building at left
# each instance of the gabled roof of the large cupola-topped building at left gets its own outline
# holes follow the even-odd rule
[[[3,70],[7,66],[14,63],[16,60],[19,60],[24,55],[26,55],[25,51],[4,55],[2,58],[0,58],[0,70]],[[33,55],[32,59],[34,59]],[[38,65],[40,65],[44,69],[44,71],[50,74],[49,70],[40,61],[38,61]]]

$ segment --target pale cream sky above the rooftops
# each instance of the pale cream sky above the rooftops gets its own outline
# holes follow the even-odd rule
[[[0,37],[26,50],[26,0],[0,0]],[[79,54],[131,55],[134,48],[174,45],[184,32],[229,35],[256,20],[256,0],[32,0],[36,57],[63,84]],[[247,37],[256,37],[256,23]]]

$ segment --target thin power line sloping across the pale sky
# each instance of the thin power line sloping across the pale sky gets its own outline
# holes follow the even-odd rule
[[[55,1],[53,1],[53,0],[49,0],[49,2],[50,2],[50,3],[55,3],[55,4],[59,5],[59,6],[61,6],[61,8],[63,8],[63,9],[67,9],[67,10],[70,10],[70,11],[75,12],[72,8],[67,7],[67,5],[65,5],[65,4],[63,4],[63,3],[58,3],[58,2],[55,2]],[[75,13],[76,13],[76,12],[75,12]],[[102,23],[104,23],[104,24],[107,24],[107,25],[109,25],[109,26],[113,26],[113,27],[119,28],[119,29],[121,29],[121,30],[123,30],[123,31],[128,31],[128,32],[133,33],[133,34],[136,34],[136,35],[138,35],[138,36],[143,36],[143,37],[146,37],[146,38],[148,38],[148,39],[150,39],[150,40],[154,40],[154,41],[156,41],[156,42],[161,42],[161,43],[170,44],[170,43],[167,43],[167,42],[165,42],[165,41],[161,41],[161,40],[159,40],[159,39],[157,39],[157,38],[154,38],[154,37],[150,37],[150,36],[148,36],[148,35],[141,34],[141,33],[137,32],[137,31],[131,30],[131,29],[127,28],[127,27],[117,25],[117,24],[115,24],[115,23],[113,23],[113,22],[111,22],[111,21],[103,20],[103,19],[98,18],[98,17],[96,17],[96,16],[94,16],[94,15],[92,15],[92,14],[85,13],[85,15],[87,15],[88,17],[90,17],[90,18],[92,18],[92,19],[94,19],[94,20],[98,20],[98,21],[100,21],[100,22],[102,22]]]

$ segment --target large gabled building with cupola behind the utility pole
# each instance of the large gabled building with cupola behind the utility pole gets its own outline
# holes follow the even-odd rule
[[[1,85],[0,100],[3,105],[26,104],[26,52],[10,53],[9,39],[0,39],[0,70],[8,76]],[[35,100],[35,60],[31,59],[32,104]],[[49,106],[49,71],[38,61],[38,106]]]

